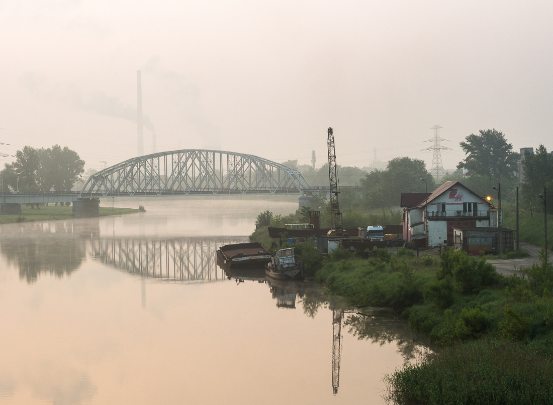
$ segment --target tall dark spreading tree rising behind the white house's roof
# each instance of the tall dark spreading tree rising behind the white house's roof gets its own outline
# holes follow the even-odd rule
[[[468,174],[488,176],[498,179],[513,179],[520,154],[513,152],[513,145],[507,143],[503,132],[495,129],[480,130],[479,135],[471,134],[461,142],[461,148],[468,156],[457,164]]]

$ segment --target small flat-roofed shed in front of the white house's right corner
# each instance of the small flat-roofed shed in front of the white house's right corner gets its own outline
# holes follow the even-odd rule
[[[480,252],[499,253],[499,228],[459,227],[453,228],[453,242],[456,249],[463,249],[468,254],[479,255]],[[503,252],[514,250],[514,231],[501,228]]]

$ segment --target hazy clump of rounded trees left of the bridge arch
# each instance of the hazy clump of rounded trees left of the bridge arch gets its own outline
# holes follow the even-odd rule
[[[12,191],[71,190],[85,171],[85,162],[67,146],[54,145],[48,149],[25,146],[15,152],[15,158],[0,172],[4,188]]]

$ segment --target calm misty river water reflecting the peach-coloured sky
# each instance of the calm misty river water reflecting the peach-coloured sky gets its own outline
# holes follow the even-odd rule
[[[315,283],[217,268],[259,212],[297,202],[116,201],[138,204],[0,227],[0,403],[383,403],[382,376],[422,349]]]

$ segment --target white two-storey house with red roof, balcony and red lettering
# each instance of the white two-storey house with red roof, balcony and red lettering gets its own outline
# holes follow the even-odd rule
[[[401,194],[403,238],[415,246],[453,246],[453,228],[493,227],[494,207],[459,182],[432,193]]]

